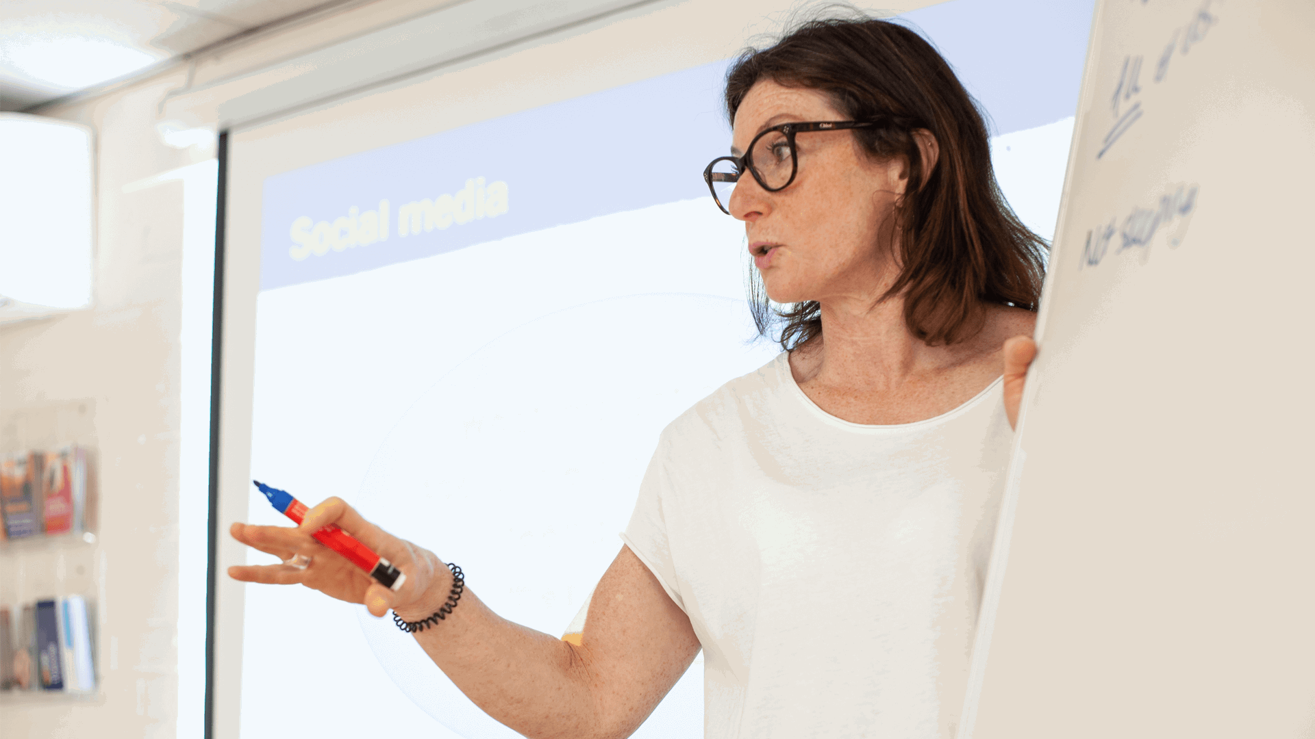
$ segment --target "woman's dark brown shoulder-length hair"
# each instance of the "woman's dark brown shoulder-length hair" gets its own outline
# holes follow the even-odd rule
[[[986,124],[949,64],[913,30],[868,17],[811,20],[767,49],[747,49],[726,75],[726,112],[735,112],[755,83],[771,79],[826,93],[855,121],[889,120],[853,129],[874,158],[905,156],[910,191],[896,209],[902,270],[882,296],[903,295],[905,321],[928,345],[976,335],[984,304],[1035,310],[1049,249],[1014,214],[995,184]],[[927,129],[940,155],[923,170],[911,131]],[[822,334],[817,301],[772,309],[753,270],[750,304],[759,333],[784,320],[780,343],[792,350]]]

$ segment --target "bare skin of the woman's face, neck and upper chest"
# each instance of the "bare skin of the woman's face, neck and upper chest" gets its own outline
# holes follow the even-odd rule
[[[777,124],[843,120],[826,95],[764,80],[735,114],[734,147],[743,150]],[[935,166],[936,139],[926,130],[915,138],[923,160]],[[823,338],[790,355],[800,388],[846,421],[909,423],[963,405],[1005,375],[1013,423],[1034,354],[1035,314],[992,305],[982,331],[965,342],[930,347],[913,337],[902,297],[880,300],[898,275],[892,218],[911,187],[907,160],[872,159],[848,130],[801,133],[796,141],[798,175],[790,187],[767,192],[744,178],[729,205],[744,221],[750,251],[771,250],[761,268],[768,296],[821,304]]]

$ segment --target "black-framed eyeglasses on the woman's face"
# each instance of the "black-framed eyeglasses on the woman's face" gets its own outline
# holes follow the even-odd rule
[[[748,170],[767,192],[790,187],[800,171],[794,135],[807,131],[836,131],[878,125],[877,121],[807,121],[772,126],[753,137],[743,156],[718,156],[704,170],[704,181],[722,213],[731,214],[731,193],[740,175]]]

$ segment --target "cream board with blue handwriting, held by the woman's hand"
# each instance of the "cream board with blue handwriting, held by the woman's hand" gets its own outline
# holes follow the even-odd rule
[[[1310,736],[1315,3],[1088,54],[959,736]]]

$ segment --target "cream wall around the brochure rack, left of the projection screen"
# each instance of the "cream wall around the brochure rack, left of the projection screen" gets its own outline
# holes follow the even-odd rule
[[[97,130],[95,308],[0,326],[0,418],[89,400],[78,441],[99,450],[95,560],[105,593],[95,604],[103,698],[5,696],[7,738],[174,734],[183,193],[179,183],[124,185],[196,156],[154,129],[156,101],[180,79],[60,112]]]

